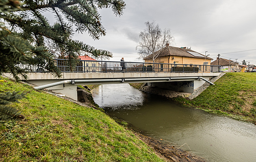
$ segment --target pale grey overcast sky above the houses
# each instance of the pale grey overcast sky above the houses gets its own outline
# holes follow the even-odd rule
[[[100,10],[106,36],[93,40],[87,33],[74,39],[113,53],[111,61],[143,61],[136,46],[146,21],[171,29],[176,47],[256,64],[256,0],[124,0],[126,9],[115,17],[111,8]],[[247,50],[247,51],[245,51]],[[244,51],[244,52],[237,52]],[[232,53],[236,52],[236,53]],[[223,54],[227,53],[227,54]]]

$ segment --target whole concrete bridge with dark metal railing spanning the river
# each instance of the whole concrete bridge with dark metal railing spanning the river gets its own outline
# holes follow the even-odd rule
[[[123,72],[121,63],[125,67]],[[20,66],[30,69],[26,82],[37,85],[35,89],[47,88],[74,100],[77,100],[77,85],[147,82],[158,88],[193,93],[210,78],[220,74],[220,66],[216,65],[79,60],[76,68],[71,70],[65,59],[56,59],[55,64],[62,72],[61,78],[54,78],[42,67]],[[11,77],[11,74],[4,75]]]

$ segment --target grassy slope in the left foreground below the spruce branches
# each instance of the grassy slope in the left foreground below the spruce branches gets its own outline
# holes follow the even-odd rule
[[[0,82],[0,90],[28,92],[13,104],[26,120],[0,122],[0,161],[163,161],[99,110],[9,80]]]

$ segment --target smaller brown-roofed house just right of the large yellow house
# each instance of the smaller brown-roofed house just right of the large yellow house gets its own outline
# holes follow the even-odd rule
[[[242,65],[239,65],[238,62],[223,58],[217,58],[210,65],[221,65],[221,72],[241,72],[242,69]]]

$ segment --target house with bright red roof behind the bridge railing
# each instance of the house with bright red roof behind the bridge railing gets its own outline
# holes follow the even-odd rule
[[[88,55],[85,56],[78,56],[80,60],[83,60],[82,63],[78,65],[78,70],[79,72],[101,72],[102,66],[101,64],[89,57]],[[85,60],[85,61],[84,61]]]

